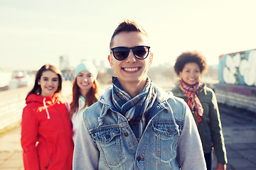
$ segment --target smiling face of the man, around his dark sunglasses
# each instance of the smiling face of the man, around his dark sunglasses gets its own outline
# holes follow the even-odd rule
[[[138,45],[148,45],[148,40],[142,33],[132,31],[121,32],[115,35],[112,47],[135,47]],[[147,72],[151,66],[153,55],[150,52],[146,59],[138,60],[132,53],[132,50],[130,50],[129,56],[125,60],[116,60],[112,54],[108,56],[108,60],[120,84],[128,86],[128,84],[143,84],[146,82]]]

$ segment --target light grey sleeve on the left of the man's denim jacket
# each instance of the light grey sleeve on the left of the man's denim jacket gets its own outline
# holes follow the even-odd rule
[[[73,169],[98,169],[99,150],[87,131],[85,120],[81,119],[81,121],[75,140]]]

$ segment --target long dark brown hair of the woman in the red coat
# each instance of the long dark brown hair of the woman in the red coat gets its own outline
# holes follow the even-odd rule
[[[45,64],[41,67],[41,69],[38,70],[38,72],[36,72],[35,84],[34,84],[32,90],[28,92],[26,98],[28,98],[28,96],[31,94],[38,94],[38,95],[41,94],[42,89],[41,89],[41,86],[38,84],[38,81],[40,81],[43,72],[46,72],[46,71],[51,71],[58,75],[58,89],[55,91],[55,93],[61,92],[62,75],[61,75],[60,69],[58,69],[57,67],[55,67],[51,64]]]

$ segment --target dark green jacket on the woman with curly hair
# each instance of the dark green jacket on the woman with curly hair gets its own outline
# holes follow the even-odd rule
[[[178,88],[178,85],[171,91],[174,93],[174,96],[183,98],[183,100],[188,103],[187,96]],[[196,121],[201,137],[203,152],[210,153],[213,147],[218,163],[227,164],[228,160],[216,96],[213,90],[208,88],[205,84],[203,84],[201,89],[198,89],[197,96],[203,106],[203,117],[200,123],[198,123],[196,114],[194,113],[193,118]]]

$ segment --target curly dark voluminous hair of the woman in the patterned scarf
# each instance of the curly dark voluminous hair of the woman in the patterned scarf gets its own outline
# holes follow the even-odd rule
[[[206,57],[204,57],[200,52],[188,51],[182,52],[181,55],[176,58],[176,62],[174,64],[174,71],[176,72],[176,74],[179,75],[179,73],[182,72],[185,64],[189,62],[195,62],[196,64],[198,64],[201,74],[207,72],[208,66],[206,63]]]

